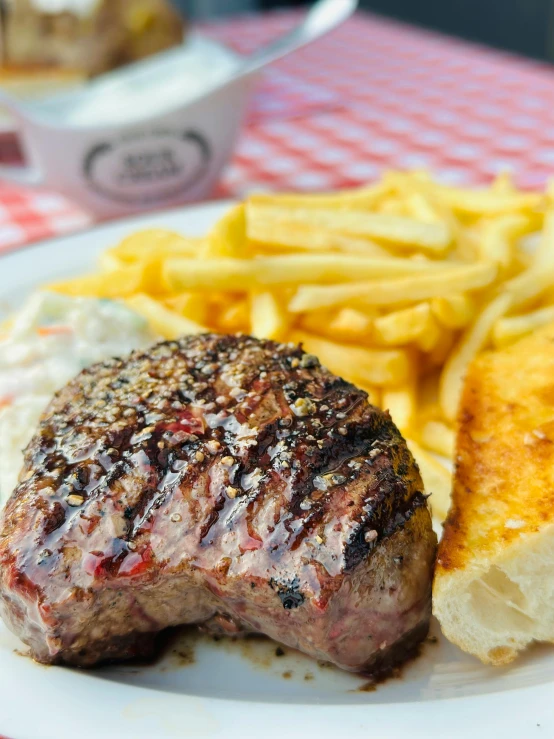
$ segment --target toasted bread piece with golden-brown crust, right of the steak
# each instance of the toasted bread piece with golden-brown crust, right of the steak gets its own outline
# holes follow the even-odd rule
[[[554,642],[554,325],[469,369],[433,596],[485,663]]]

